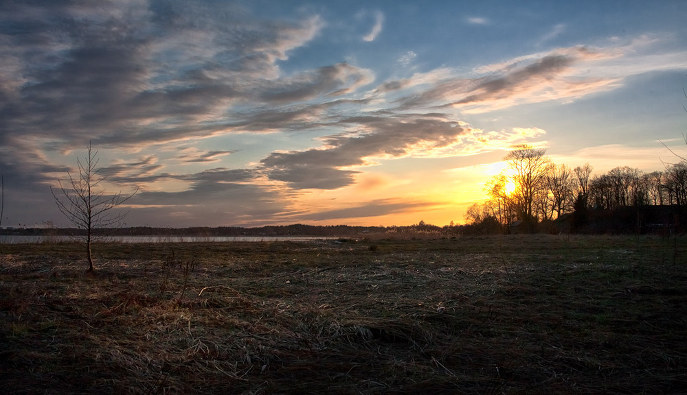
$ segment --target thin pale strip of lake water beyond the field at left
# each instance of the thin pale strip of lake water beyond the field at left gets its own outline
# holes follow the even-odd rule
[[[337,237],[314,236],[109,236],[98,237],[95,243],[214,243],[232,241],[315,241],[337,239]],[[10,235],[0,236],[0,243],[64,243],[76,241],[78,238],[71,236],[27,236]]]

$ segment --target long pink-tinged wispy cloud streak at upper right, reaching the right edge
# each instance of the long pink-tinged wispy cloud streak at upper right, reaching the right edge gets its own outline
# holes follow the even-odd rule
[[[478,113],[539,103],[572,101],[624,84],[641,73],[687,69],[682,52],[647,52],[643,40],[609,47],[570,47],[488,64],[465,75],[451,70],[385,82],[396,87],[401,109],[451,106]],[[405,95],[403,94],[405,92]]]

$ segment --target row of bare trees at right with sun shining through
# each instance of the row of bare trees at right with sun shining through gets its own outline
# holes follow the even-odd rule
[[[573,169],[553,163],[545,149],[519,145],[504,157],[506,169],[486,183],[488,199],[470,206],[465,219],[481,233],[533,232],[563,219],[582,229],[602,211],[687,206],[687,160],[678,158],[664,171],[622,166],[592,176],[588,163]]]

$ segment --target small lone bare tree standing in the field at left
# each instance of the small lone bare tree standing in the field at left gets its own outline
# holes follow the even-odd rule
[[[61,193],[56,193],[52,187],[50,191],[60,212],[69,219],[71,224],[85,230],[84,239],[89,263],[87,272],[93,272],[93,257],[91,256],[93,230],[119,225],[128,212],[117,213],[113,211],[113,208],[131,199],[138,190],[131,195],[122,195],[121,191],[115,195],[107,195],[101,186],[105,177],[98,174],[98,151],[93,151],[90,141],[87,149],[88,154],[84,161],[76,158],[78,178],[67,172],[69,184],[65,187],[62,181],[59,181]]]

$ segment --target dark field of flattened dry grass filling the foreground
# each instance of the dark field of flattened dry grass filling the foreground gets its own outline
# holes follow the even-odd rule
[[[1,392],[687,388],[684,237],[81,249],[0,245]]]

